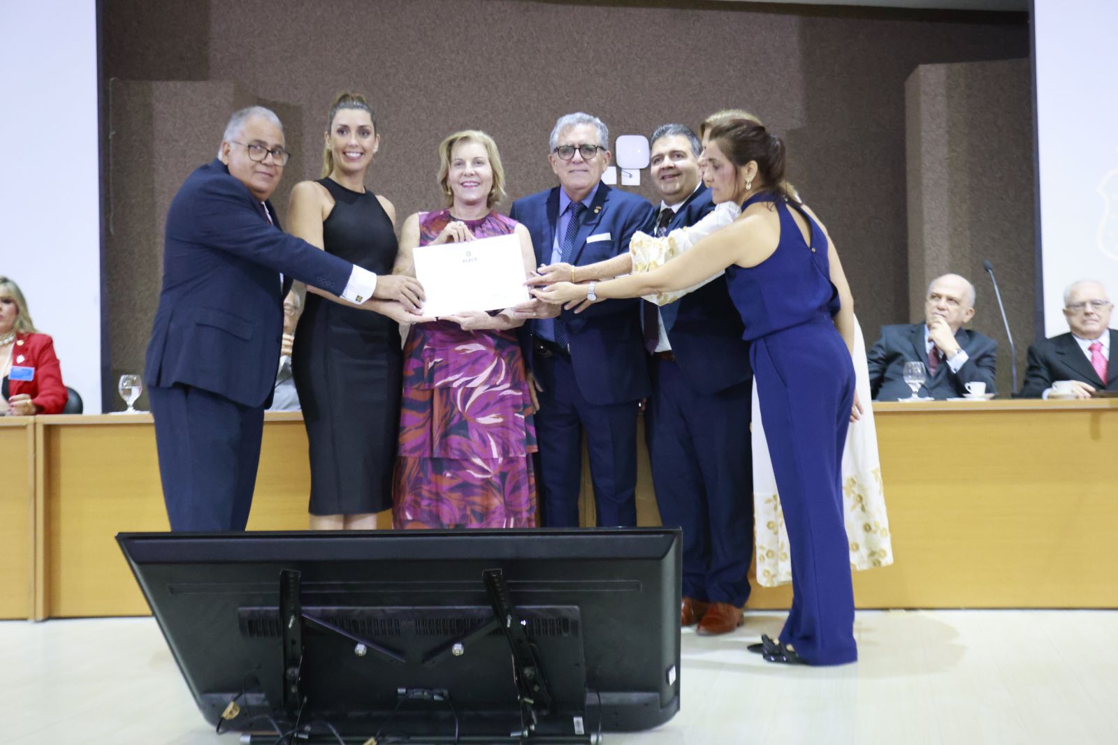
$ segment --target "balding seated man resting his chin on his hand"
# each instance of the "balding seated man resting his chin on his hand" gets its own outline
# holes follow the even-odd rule
[[[912,395],[904,382],[904,363],[922,362],[927,380],[920,397],[953,399],[967,393],[967,383],[985,383],[994,393],[997,343],[963,324],[975,314],[975,288],[959,275],[944,275],[928,285],[925,322],[883,326],[881,338],[866,355],[874,401]]]

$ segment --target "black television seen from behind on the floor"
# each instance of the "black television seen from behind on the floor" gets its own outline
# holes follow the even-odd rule
[[[202,715],[246,742],[590,743],[680,707],[678,529],[117,542]]]

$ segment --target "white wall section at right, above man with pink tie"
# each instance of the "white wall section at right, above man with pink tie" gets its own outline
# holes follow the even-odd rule
[[[1100,279],[1118,299],[1118,1],[1035,0],[1033,23],[1044,325],[1052,336],[1068,331],[1061,309],[1070,283]]]

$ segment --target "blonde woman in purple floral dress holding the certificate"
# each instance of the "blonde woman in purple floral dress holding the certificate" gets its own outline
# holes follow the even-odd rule
[[[467,131],[439,145],[447,208],[404,223],[395,271],[414,274],[416,246],[515,233],[525,276],[528,230],[493,206],[504,172],[492,137]],[[512,309],[463,312],[413,325],[404,347],[404,407],[392,480],[397,528],[533,527],[532,392]]]

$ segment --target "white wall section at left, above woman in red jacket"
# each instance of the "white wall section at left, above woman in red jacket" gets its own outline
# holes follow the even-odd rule
[[[101,413],[94,1],[0,0],[0,275],[54,336],[85,412]]]

